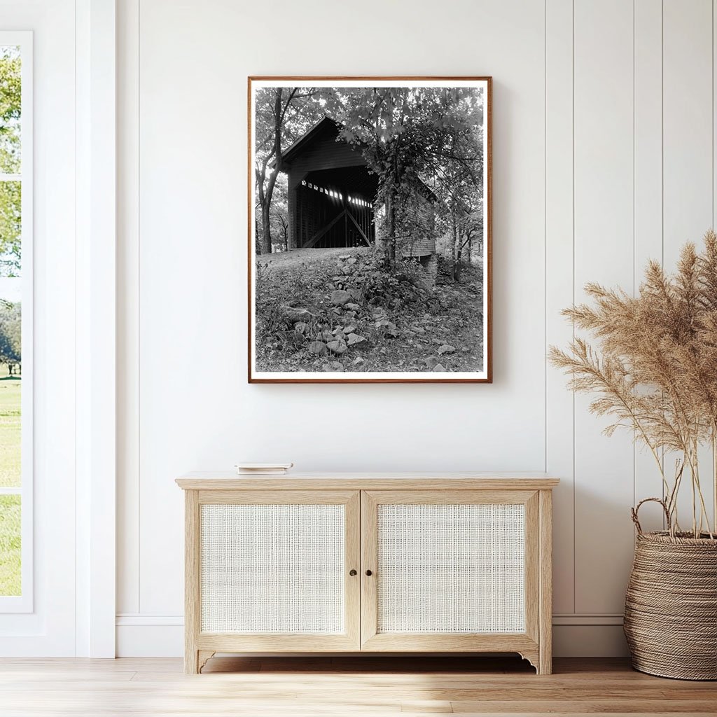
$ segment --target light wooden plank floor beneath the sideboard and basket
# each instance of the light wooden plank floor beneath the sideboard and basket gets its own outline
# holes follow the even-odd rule
[[[475,657],[216,657],[0,660],[0,715],[717,715],[717,683],[641,675],[626,660]]]

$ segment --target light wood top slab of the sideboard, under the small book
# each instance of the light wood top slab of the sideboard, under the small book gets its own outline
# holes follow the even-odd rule
[[[559,483],[546,473],[187,473],[176,483],[184,490],[550,490]]]

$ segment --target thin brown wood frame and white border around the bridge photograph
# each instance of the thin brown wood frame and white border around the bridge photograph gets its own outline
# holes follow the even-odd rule
[[[451,378],[449,372],[431,374],[430,371],[419,376],[406,378],[381,377],[381,372],[373,376],[352,377],[351,373],[321,374],[315,376],[293,378],[282,374],[280,378],[267,378],[255,376],[253,343],[254,343],[254,315],[255,282],[252,265],[254,256],[254,193],[255,172],[252,166],[253,159],[253,92],[252,82],[287,82],[287,86],[311,86],[312,82],[328,81],[333,85],[341,86],[341,82],[366,82],[371,86],[373,80],[391,81],[400,85],[410,85],[412,81],[448,83],[456,82],[485,82],[484,118],[484,221],[483,221],[483,297],[485,322],[485,344],[483,346],[484,374],[476,378],[460,376]],[[493,383],[493,78],[490,76],[410,76],[410,75],[355,75],[355,76],[329,76],[329,75],[254,75],[247,78],[247,380],[250,384],[490,384]]]

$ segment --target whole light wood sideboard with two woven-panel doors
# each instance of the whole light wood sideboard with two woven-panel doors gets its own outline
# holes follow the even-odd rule
[[[214,652],[518,652],[551,672],[556,478],[179,478],[185,670]]]

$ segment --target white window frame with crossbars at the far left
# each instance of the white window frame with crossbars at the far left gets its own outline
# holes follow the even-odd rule
[[[32,612],[34,608],[34,561],[33,561],[33,285],[32,270],[32,31],[0,30],[0,46],[17,45],[22,63],[20,118],[20,151],[22,163],[19,175],[0,174],[0,180],[19,179],[22,184],[22,399],[21,399],[21,452],[22,475],[19,488],[0,488],[0,495],[20,495],[20,538],[22,594],[19,596],[0,595],[0,612]]]

